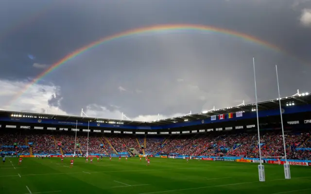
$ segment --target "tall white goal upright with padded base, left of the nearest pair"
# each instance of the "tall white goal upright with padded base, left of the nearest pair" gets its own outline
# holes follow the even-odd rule
[[[264,165],[261,163],[261,146],[260,146],[260,133],[259,133],[259,117],[258,117],[258,99],[257,99],[257,86],[256,86],[256,73],[255,73],[255,59],[253,57],[253,67],[254,67],[254,81],[255,81],[255,98],[256,98],[256,114],[257,114],[257,129],[258,129],[258,146],[259,146],[259,162],[258,165],[258,174],[259,174],[259,181],[265,181],[265,174],[264,174]]]

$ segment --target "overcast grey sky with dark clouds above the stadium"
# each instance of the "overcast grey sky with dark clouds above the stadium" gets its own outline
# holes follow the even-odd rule
[[[90,49],[17,96],[59,60],[105,36],[199,24],[215,32],[146,33]],[[311,0],[1,0],[0,109],[151,121],[311,92]],[[17,100],[13,100],[17,98]]]

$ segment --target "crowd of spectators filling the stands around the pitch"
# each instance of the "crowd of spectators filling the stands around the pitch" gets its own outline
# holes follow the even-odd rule
[[[56,145],[51,134],[27,134],[28,142],[33,142],[34,154],[53,154],[59,153],[62,147],[64,154],[73,154],[75,136],[73,134],[54,135]],[[111,136],[107,137],[110,144],[117,152],[128,152],[129,148],[135,148],[142,153],[143,137],[135,136]],[[13,152],[14,154],[29,154],[26,135],[22,133],[3,133],[0,135],[0,150],[2,152]],[[88,153],[94,154],[115,154],[113,148],[105,138],[90,136],[88,142]],[[103,141],[101,141],[103,140]],[[311,139],[308,132],[304,133],[285,133],[286,152],[288,159],[311,159]],[[15,144],[16,143],[16,144]],[[80,135],[77,137],[79,147],[83,154],[86,154],[87,137]],[[13,146],[15,144],[15,146]],[[103,144],[103,145],[102,145]],[[10,146],[10,147],[7,147]],[[262,132],[260,134],[261,155],[263,157],[284,156],[283,137],[280,131]],[[307,148],[307,149],[306,149]],[[259,145],[257,133],[223,133],[222,135],[197,134],[179,135],[164,137],[147,137],[146,154],[173,154],[173,155],[192,155],[192,156],[239,156],[258,158]]]

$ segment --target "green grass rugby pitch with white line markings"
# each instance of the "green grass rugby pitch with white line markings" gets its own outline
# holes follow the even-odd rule
[[[311,167],[265,164],[259,182],[256,163],[151,158],[6,158],[0,165],[0,194],[311,194]]]

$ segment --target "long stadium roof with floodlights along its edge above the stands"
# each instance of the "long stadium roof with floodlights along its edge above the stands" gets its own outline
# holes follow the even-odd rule
[[[311,103],[311,94],[302,93],[296,94],[292,97],[284,97],[281,100],[282,106],[297,106],[306,105]],[[258,110],[269,110],[278,109],[279,99],[272,99],[268,101],[263,101],[258,103]],[[118,119],[106,119],[106,118],[95,118],[95,117],[83,117],[83,116],[70,116],[70,115],[57,115],[57,114],[45,114],[45,113],[25,113],[25,112],[13,112],[13,111],[0,111],[0,116],[16,116],[16,117],[32,117],[32,118],[47,118],[47,119],[57,119],[66,121],[84,121],[84,122],[103,122],[110,124],[127,124],[127,125],[137,125],[137,126],[158,126],[177,122],[185,122],[196,119],[209,118],[212,115],[224,114],[224,113],[235,113],[235,112],[252,112],[256,111],[256,103],[239,105],[235,107],[227,107],[225,109],[213,109],[203,113],[188,114],[179,117],[161,119],[157,121],[143,122],[143,121],[129,121],[129,120],[118,120]]]

